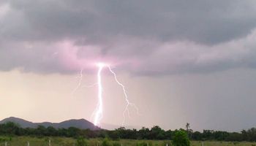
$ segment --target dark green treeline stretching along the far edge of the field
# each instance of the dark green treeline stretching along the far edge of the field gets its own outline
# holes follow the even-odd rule
[[[179,129],[186,131],[191,140],[217,140],[217,141],[256,141],[256,128],[250,128],[241,132],[213,131],[203,130],[192,131],[192,129]],[[21,128],[16,123],[8,122],[0,124],[0,135],[4,136],[35,136],[35,137],[86,137],[86,138],[110,138],[110,139],[173,139],[176,131],[163,130],[159,126],[154,126],[151,129],[141,128],[126,129],[124,127],[117,128],[113,131],[90,129],[70,128],[53,128],[51,126],[38,126],[37,128]]]

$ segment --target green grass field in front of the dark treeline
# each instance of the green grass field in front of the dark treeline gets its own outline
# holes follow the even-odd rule
[[[0,137],[0,146],[4,146],[7,141],[8,146],[27,146],[29,142],[30,146],[48,146],[50,139],[51,146],[75,146],[76,139],[63,138],[63,137]],[[89,146],[100,146],[102,145],[103,139],[88,139]],[[146,143],[148,146],[166,146],[166,143],[170,141],[165,140],[127,140],[121,139],[118,141],[110,141],[110,145],[122,145],[122,146],[137,146],[138,144]],[[201,146],[202,142],[191,142],[192,146]],[[256,146],[256,142],[203,142],[204,146]],[[169,145],[170,146],[170,145]]]

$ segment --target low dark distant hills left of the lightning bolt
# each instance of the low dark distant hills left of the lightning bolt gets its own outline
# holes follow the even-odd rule
[[[37,126],[53,126],[54,128],[69,128],[69,127],[75,127],[75,128],[81,128],[81,129],[86,129],[89,128],[91,130],[99,130],[97,126],[94,126],[93,123],[89,122],[88,120],[85,119],[79,119],[79,120],[65,120],[61,123],[50,123],[50,122],[43,122],[43,123],[33,123],[28,120],[23,120],[21,118],[15,118],[15,117],[10,117],[10,118],[5,118],[4,120],[1,120],[0,123],[7,123],[7,122],[13,122],[13,123],[18,123],[18,125],[22,128],[37,128]]]

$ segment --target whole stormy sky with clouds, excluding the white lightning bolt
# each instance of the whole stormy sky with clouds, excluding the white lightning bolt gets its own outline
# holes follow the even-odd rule
[[[0,0],[0,119],[91,120],[97,87],[84,87],[105,62],[139,108],[124,126],[251,128],[255,40],[254,0]],[[108,69],[102,85],[102,127],[121,126]]]

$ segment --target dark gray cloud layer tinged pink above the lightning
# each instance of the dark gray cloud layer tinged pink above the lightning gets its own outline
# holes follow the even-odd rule
[[[255,8],[249,0],[0,1],[0,69],[72,72],[89,61],[133,74],[255,68]]]

